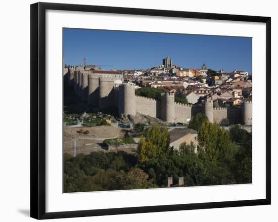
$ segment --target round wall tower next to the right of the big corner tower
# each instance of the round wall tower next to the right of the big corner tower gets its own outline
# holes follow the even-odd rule
[[[161,94],[161,118],[166,122],[175,122],[175,96],[173,93]]]

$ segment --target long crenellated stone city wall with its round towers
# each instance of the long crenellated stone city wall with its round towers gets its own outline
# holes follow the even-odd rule
[[[136,113],[160,118],[166,122],[188,123],[198,112],[204,113],[209,121],[219,123],[228,118],[230,123],[252,125],[252,101],[244,102],[239,108],[213,108],[213,101],[205,101],[202,106],[184,105],[174,102],[174,94],[164,93],[161,100],[135,95],[133,83],[114,86],[118,77],[90,73],[87,70],[68,70],[68,84],[72,85],[76,95],[88,105],[100,109],[118,107],[118,114]]]

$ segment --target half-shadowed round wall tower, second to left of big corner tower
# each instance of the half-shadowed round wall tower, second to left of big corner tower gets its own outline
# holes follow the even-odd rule
[[[88,105],[98,105],[98,88],[99,88],[99,76],[89,73],[88,90],[87,90]]]

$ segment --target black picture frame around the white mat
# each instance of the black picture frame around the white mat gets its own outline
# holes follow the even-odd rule
[[[76,210],[45,212],[45,11],[67,10],[79,12],[116,13],[226,21],[246,21],[266,24],[266,198],[194,204],[175,204],[113,209]],[[271,78],[271,18],[244,15],[225,15],[165,11],[153,9],[117,8],[105,6],[36,3],[31,5],[31,217],[36,219],[98,216],[126,213],[146,213],[189,209],[266,205],[271,203],[271,160],[270,160],[270,78]]]

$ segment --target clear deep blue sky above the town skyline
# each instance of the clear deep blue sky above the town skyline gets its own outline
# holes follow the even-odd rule
[[[169,56],[174,65],[252,73],[252,38],[64,28],[65,64],[146,69]]]

